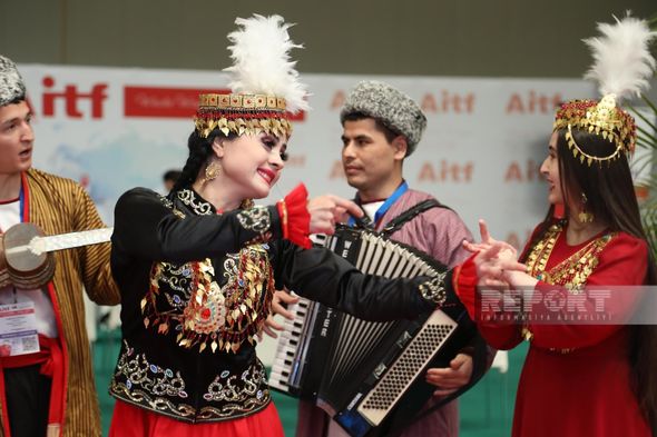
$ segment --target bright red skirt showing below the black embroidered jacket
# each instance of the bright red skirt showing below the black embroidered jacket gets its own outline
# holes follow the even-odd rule
[[[284,437],[274,403],[254,415],[210,424],[186,424],[116,401],[109,437]]]

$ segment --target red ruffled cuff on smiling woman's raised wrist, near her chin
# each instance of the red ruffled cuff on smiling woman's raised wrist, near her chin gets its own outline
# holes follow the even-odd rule
[[[285,199],[276,203],[281,216],[283,238],[295,245],[310,249],[313,244],[310,236],[311,215],[307,209],[308,191],[303,183],[294,188]]]

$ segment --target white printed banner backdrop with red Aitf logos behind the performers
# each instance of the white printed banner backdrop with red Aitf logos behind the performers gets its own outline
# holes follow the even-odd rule
[[[23,64],[35,111],[35,166],[82,182],[104,219],[117,198],[145,186],[161,191],[161,175],[182,168],[197,95],[226,89],[208,71]],[[361,77],[303,75],[312,111],[294,123],[290,160],[271,199],[303,181],[311,195],[353,196],[343,177],[339,113],[357,81],[379,79],[422,105],[429,122],[404,165],[410,186],[458,211],[477,235],[522,245],[547,210],[539,166],[557,102],[595,96],[580,80]]]

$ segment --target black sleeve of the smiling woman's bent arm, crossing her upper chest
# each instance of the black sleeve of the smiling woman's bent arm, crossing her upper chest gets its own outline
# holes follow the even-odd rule
[[[185,262],[236,252],[249,241],[280,235],[276,207],[185,216],[167,207],[156,192],[135,188],[116,205],[111,241],[130,257]]]

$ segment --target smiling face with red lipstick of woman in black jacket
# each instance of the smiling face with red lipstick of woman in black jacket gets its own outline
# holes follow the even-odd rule
[[[269,133],[216,138],[213,150],[220,160],[217,182],[236,199],[262,199],[281,177],[287,153],[287,138]]]

